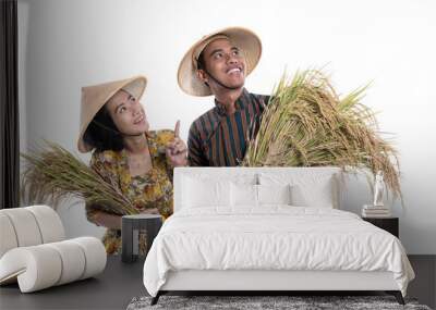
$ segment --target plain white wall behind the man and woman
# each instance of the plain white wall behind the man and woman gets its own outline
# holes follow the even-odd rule
[[[143,98],[154,128],[191,122],[211,99],[184,95],[179,61],[203,35],[245,26],[264,44],[247,89],[269,94],[284,67],[326,67],[341,94],[374,80],[364,103],[396,134],[407,210],[396,203],[408,252],[436,253],[436,3],[434,1],[19,0],[21,104],[26,147],[41,138],[76,151],[80,88],[145,74]],[[82,157],[87,160],[88,157]],[[370,202],[364,181],[350,182],[347,210]],[[61,208],[68,234],[101,235],[83,208]]]

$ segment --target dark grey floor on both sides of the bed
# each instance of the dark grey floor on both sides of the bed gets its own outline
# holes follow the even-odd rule
[[[416,278],[409,296],[435,308],[436,256],[409,257]],[[146,295],[142,282],[143,261],[124,264],[110,257],[96,278],[88,278],[33,294],[20,294],[16,285],[0,288],[0,309],[125,309],[134,296]]]

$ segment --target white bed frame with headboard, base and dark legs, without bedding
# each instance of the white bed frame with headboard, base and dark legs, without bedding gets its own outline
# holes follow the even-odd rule
[[[226,177],[232,174],[255,174],[275,170],[295,170],[295,168],[177,168],[174,169],[174,211],[180,209],[182,195],[181,179],[184,174],[205,173],[215,177]],[[299,169],[304,170],[304,169]],[[314,169],[307,169],[314,170]],[[322,173],[339,173],[338,168],[317,168]],[[339,197],[341,193],[338,193]],[[340,199],[339,199],[340,201]],[[340,207],[340,206],[339,206]],[[156,305],[161,295],[168,293],[201,292],[215,295],[217,292],[250,293],[250,295],[289,295],[290,293],[307,293],[316,295],[323,292],[364,293],[385,292],[393,295],[400,305],[404,299],[393,280],[391,272],[359,272],[359,271],[276,271],[276,270],[184,270],[171,271],[167,282],[160,288],[152,305]],[[214,293],[214,294],[211,294]]]

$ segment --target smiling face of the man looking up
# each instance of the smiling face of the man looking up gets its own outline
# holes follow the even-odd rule
[[[243,87],[245,82],[245,59],[242,51],[227,39],[211,41],[203,50],[206,70],[226,86]],[[214,90],[221,87],[204,70],[198,70],[198,77],[208,83]]]

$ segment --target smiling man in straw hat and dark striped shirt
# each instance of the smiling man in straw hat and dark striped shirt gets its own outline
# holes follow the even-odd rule
[[[191,166],[234,166],[244,159],[269,99],[244,88],[261,53],[262,44],[254,33],[231,27],[203,37],[183,57],[180,88],[192,96],[215,96],[215,107],[190,127]]]

